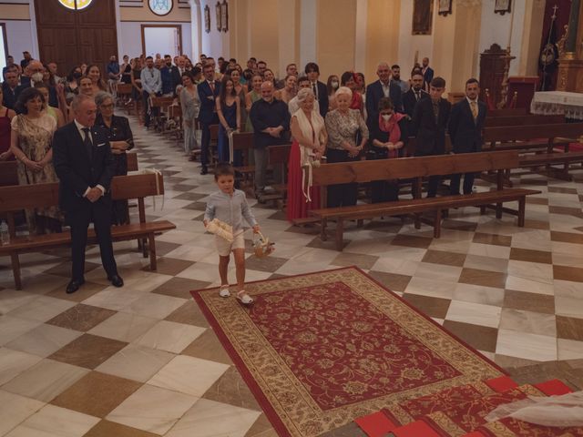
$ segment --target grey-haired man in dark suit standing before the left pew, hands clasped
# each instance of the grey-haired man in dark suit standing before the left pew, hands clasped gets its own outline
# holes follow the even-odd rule
[[[75,119],[58,129],[53,139],[53,162],[60,180],[59,206],[71,227],[72,278],[66,286],[74,293],[85,282],[87,228],[94,223],[101,262],[115,287],[124,285],[118,275],[111,243],[111,193],[109,191],[116,164],[106,133],[94,127],[97,106],[92,97],[73,99]]]

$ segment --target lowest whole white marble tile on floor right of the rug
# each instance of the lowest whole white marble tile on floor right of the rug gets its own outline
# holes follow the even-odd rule
[[[496,353],[533,361],[557,360],[557,339],[516,330],[498,330]]]

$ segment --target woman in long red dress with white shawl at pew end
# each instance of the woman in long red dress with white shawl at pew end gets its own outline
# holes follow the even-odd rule
[[[321,208],[320,188],[312,187],[312,167],[320,163],[328,142],[324,120],[314,110],[312,89],[302,88],[297,99],[300,109],[292,115],[293,144],[288,166],[286,215],[291,222],[308,217],[310,209]]]

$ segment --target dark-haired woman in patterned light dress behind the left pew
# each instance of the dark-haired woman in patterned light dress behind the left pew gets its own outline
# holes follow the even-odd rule
[[[51,148],[56,121],[46,114],[45,105],[45,97],[36,88],[26,88],[16,102],[16,112],[19,114],[12,119],[10,149],[18,160],[20,185],[58,181]],[[31,234],[60,231],[60,219],[56,207],[26,209],[26,222]]]

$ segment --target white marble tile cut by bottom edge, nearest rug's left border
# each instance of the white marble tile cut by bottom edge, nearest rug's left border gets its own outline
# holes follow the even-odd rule
[[[167,437],[244,437],[261,412],[200,399]]]

